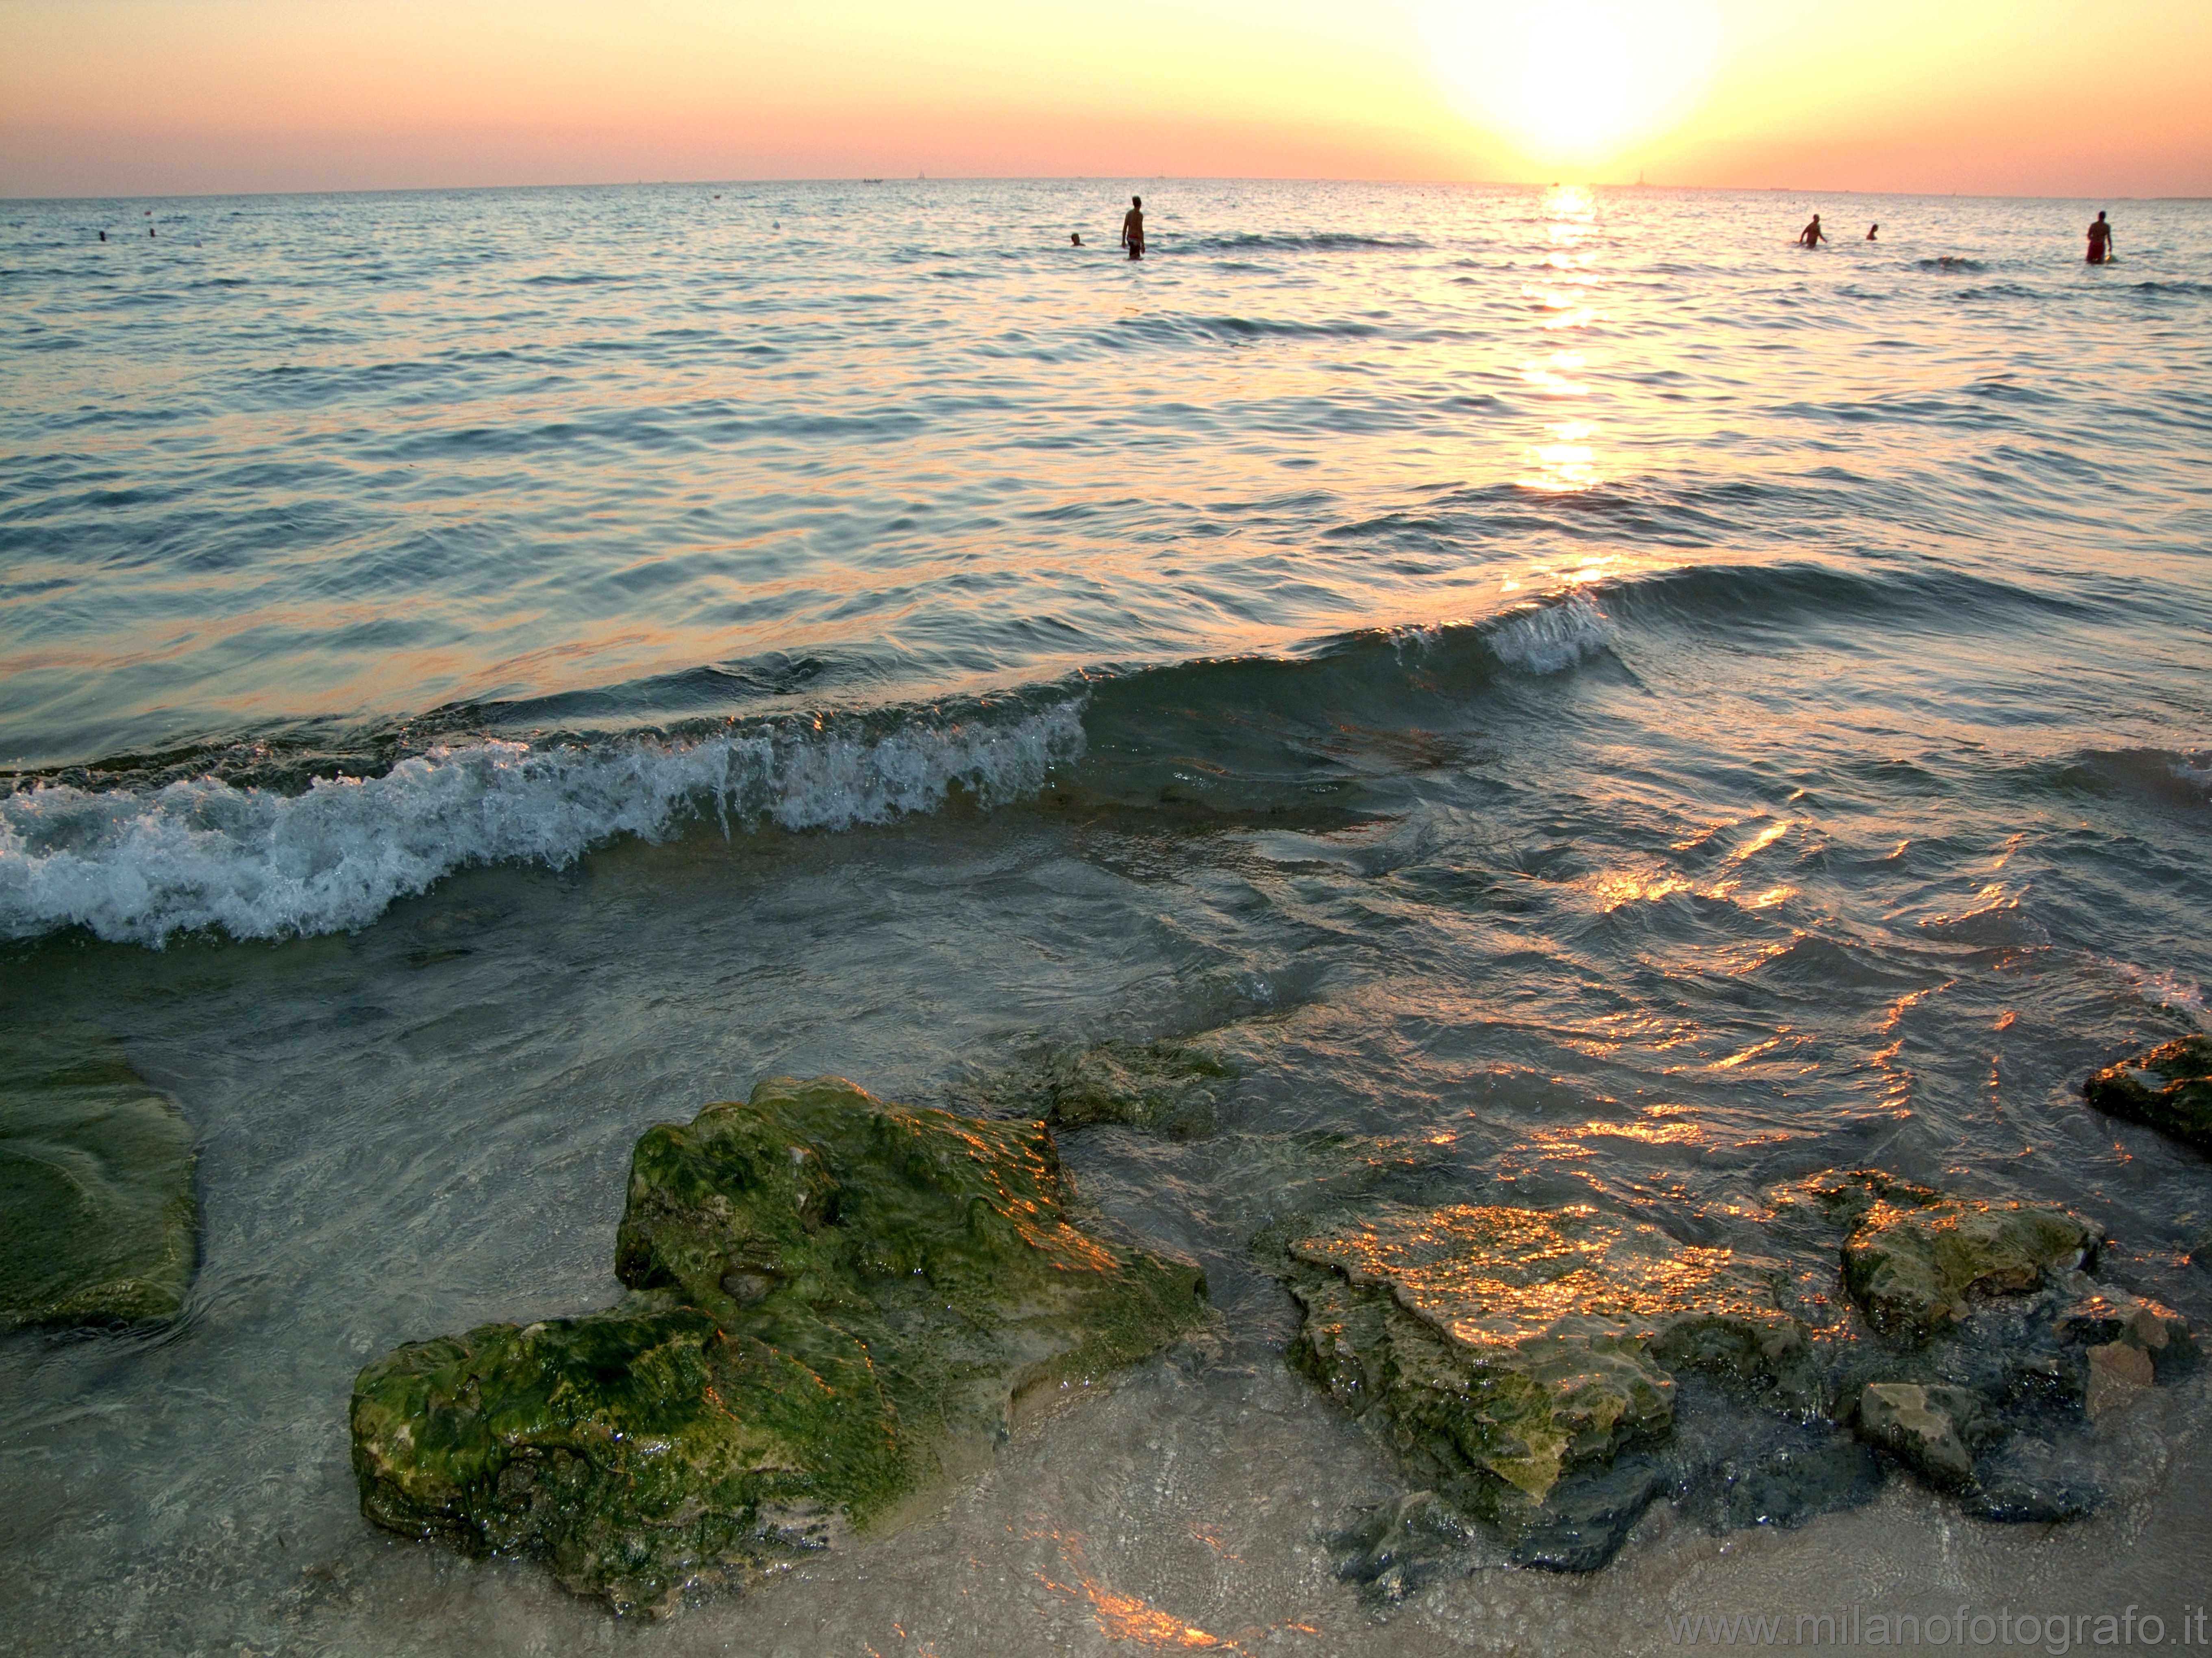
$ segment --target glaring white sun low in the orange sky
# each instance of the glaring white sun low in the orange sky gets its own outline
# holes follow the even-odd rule
[[[1460,0],[1431,27],[1453,108],[1546,166],[1593,166],[1703,102],[1721,31],[1699,0]]]

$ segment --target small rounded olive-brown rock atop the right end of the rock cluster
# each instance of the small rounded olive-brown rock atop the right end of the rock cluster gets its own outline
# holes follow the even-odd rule
[[[1843,1240],[1843,1284],[1885,1335],[1936,1335],[1973,1293],[2026,1293],[2097,1258],[2097,1231],[2066,1209],[1909,1192],[1869,1203]]]

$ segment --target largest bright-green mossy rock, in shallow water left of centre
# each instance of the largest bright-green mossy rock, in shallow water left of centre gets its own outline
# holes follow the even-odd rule
[[[648,1130],[606,1313],[416,1342],[354,1382],[361,1508],[666,1612],[876,1525],[1013,1402],[1203,1324],[1194,1267],[1071,1225],[1042,1123],[765,1081]]]

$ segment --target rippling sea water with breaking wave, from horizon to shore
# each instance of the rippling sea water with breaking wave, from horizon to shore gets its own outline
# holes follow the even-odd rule
[[[1248,1240],[1318,1143],[1750,1251],[1765,1194],[1874,1165],[2073,1205],[2212,1320],[2205,1161],[2079,1099],[2212,979],[2212,203],[40,201],[0,301],[0,1032],[115,1037],[204,1209],[173,1326],[0,1337],[0,1651],[2201,1603],[2199,1382],[2070,1528],[1905,1479],[1790,1532],[1661,1503],[1590,1578],[1378,1612],[1325,1539],[1405,1483]],[[1212,1132],[1062,1150],[1206,1267],[1217,1362],[668,1625],[361,1519],[354,1371],[611,1304],[650,1123],[1161,1039],[1234,1057]]]

